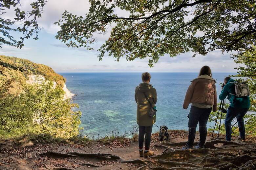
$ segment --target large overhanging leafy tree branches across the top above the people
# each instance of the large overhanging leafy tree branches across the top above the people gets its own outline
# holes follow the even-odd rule
[[[174,57],[188,51],[206,55],[220,49],[243,51],[255,44],[256,0],[90,0],[86,17],[65,11],[56,39],[71,47],[86,47],[95,34],[110,37],[98,49],[117,61],[160,56]],[[120,11],[121,10],[121,11]],[[119,15],[121,13],[121,15]]]

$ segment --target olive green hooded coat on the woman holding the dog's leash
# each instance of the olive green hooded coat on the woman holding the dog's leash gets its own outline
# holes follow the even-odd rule
[[[149,117],[150,104],[145,97],[148,97],[153,107],[157,103],[157,91],[151,84],[140,83],[135,89],[135,101],[137,103],[137,124],[139,126],[152,126],[156,122],[156,117]]]

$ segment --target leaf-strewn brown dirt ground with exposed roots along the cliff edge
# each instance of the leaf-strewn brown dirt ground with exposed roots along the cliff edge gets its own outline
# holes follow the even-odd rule
[[[0,169],[80,170],[80,169],[229,169],[240,166],[255,168],[254,141],[225,142],[207,137],[207,148],[181,151],[187,131],[172,130],[171,138],[159,145],[158,134],[152,135],[151,150],[156,156],[139,157],[138,142],[114,140],[110,144],[33,144],[21,146],[5,141],[0,145]],[[197,134],[195,141],[199,140]],[[241,168],[240,168],[241,169]]]

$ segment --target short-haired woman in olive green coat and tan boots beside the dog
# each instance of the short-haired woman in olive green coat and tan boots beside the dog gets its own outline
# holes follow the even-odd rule
[[[153,124],[156,122],[156,116],[149,117],[150,103],[152,107],[157,103],[157,91],[149,84],[151,76],[145,72],[141,75],[143,83],[135,89],[135,101],[137,103],[137,124],[139,125],[139,155],[143,156],[143,143],[145,136],[144,156],[149,157],[154,152],[149,151],[151,132]],[[149,101],[148,101],[149,100]],[[150,102],[150,103],[149,103]]]

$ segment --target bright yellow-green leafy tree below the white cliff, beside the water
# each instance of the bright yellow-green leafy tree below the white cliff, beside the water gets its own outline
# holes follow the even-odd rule
[[[61,87],[53,88],[53,81],[26,85],[21,98],[32,113],[30,131],[35,134],[46,133],[57,138],[70,138],[78,135],[80,111],[74,111],[77,104],[70,99],[63,100]]]

